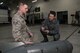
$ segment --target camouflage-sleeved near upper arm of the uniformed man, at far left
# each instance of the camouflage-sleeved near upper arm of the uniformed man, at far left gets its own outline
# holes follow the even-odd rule
[[[15,41],[21,38],[20,29],[21,29],[21,23],[19,22],[19,20],[13,19],[12,20],[12,34],[13,34],[13,37],[15,38]]]

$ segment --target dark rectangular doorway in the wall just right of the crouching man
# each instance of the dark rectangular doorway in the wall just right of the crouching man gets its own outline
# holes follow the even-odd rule
[[[68,11],[57,12],[57,19],[60,24],[68,24]]]

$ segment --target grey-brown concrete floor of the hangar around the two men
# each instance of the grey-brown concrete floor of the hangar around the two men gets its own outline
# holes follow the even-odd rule
[[[40,33],[40,25],[34,25],[29,26],[31,31],[34,33],[34,42],[40,43],[40,41],[43,40],[43,37]],[[60,25],[60,40],[65,40],[73,31],[75,31],[78,28],[78,26],[72,26],[72,25]],[[77,33],[80,30],[80,28],[77,29],[77,31],[74,32],[74,34],[68,39],[69,42],[73,45],[73,53],[79,53],[80,52],[80,34]],[[49,41],[52,40],[51,36],[48,36]],[[13,42],[14,39],[12,38],[11,34],[11,25],[0,25],[0,42]]]

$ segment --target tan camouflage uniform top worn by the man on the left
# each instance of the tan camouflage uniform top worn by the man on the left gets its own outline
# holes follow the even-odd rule
[[[26,40],[29,38],[28,32],[31,31],[26,25],[24,16],[20,15],[20,13],[17,12],[12,18],[12,35],[15,38],[15,41],[19,39]]]

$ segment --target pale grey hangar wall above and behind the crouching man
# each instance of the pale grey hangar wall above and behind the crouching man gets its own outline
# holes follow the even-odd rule
[[[47,14],[50,10],[54,11],[68,11],[68,24],[71,24],[72,17],[71,14],[75,14],[76,11],[79,11],[79,0],[49,0],[44,2],[43,0],[38,0],[38,2],[33,3],[34,7],[40,7],[41,12],[44,13],[44,16],[47,17]],[[31,4],[30,4],[31,6]]]

